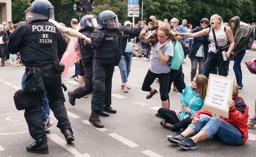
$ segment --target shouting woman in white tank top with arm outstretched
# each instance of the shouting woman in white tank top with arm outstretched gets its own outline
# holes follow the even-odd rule
[[[232,34],[232,31],[229,27],[223,26],[223,20],[218,14],[214,14],[211,16],[210,19],[211,28],[203,29],[196,33],[179,33],[176,32],[175,34],[186,36],[186,37],[197,37],[197,36],[203,36],[205,34],[209,34],[209,40],[211,42],[211,52],[208,53],[208,57],[206,60],[206,63],[204,65],[203,74],[206,75],[206,77],[209,77],[209,74],[214,69],[215,65],[218,65],[218,73],[221,76],[227,76],[229,71],[229,62],[230,62],[230,53],[234,48],[234,37]],[[214,41],[214,35],[213,35],[213,29],[215,31],[216,35],[216,42],[218,47],[220,46],[228,46],[229,42],[229,48],[224,54],[228,60],[223,60],[221,52],[219,53],[216,48],[216,44]],[[221,36],[219,38],[219,36]]]

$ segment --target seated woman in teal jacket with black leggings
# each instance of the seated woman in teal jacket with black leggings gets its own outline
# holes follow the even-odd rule
[[[160,108],[158,114],[164,118],[160,124],[171,131],[182,132],[181,129],[187,128],[191,123],[190,117],[199,109],[204,107],[204,99],[206,97],[208,79],[204,75],[196,75],[187,85],[181,94],[181,110],[172,111]]]

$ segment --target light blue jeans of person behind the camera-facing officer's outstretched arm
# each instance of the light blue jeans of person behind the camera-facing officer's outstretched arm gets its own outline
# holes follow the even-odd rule
[[[130,53],[130,60],[129,62],[127,62],[127,60],[125,59],[124,56],[121,57],[121,60],[119,62],[119,70],[120,70],[120,74],[121,74],[121,79],[122,82],[128,82],[128,76],[129,73],[131,72],[131,66],[132,66],[132,53]]]

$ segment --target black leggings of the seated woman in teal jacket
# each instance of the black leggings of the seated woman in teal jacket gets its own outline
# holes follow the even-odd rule
[[[180,132],[181,128],[187,128],[191,124],[190,116],[179,121],[176,113],[172,110],[160,108],[157,112],[164,120],[174,125],[175,131]]]

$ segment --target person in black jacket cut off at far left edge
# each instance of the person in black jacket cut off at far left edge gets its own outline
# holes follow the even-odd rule
[[[2,66],[5,66],[5,46],[8,40],[8,34],[4,30],[3,25],[0,24],[0,57]]]

